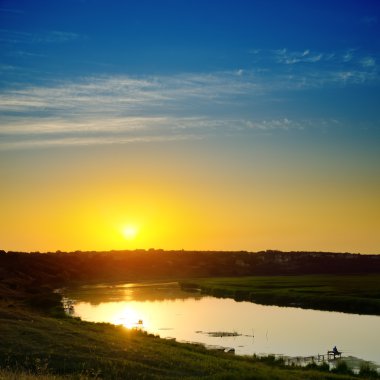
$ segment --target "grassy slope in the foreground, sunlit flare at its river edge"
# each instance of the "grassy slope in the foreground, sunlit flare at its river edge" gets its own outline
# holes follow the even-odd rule
[[[210,352],[141,331],[8,306],[0,307],[0,379],[354,378]]]

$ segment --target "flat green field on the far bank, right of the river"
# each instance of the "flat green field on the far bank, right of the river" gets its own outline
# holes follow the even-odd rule
[[[380,315],[380,275],[204,278],[181,286],[261,304]]]

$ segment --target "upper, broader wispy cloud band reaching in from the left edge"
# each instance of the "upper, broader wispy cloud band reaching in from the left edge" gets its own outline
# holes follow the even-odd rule
[[[0,111],[45,115],[131,115],[174,112],[202,107],[205,102],[233,102],[259,91],[238,73],[182,74],[161,77],[91,77],[80,83],[10,89],[0,94]]]

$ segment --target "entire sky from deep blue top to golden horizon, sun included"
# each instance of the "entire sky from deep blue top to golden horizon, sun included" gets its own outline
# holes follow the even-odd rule
[[[380,252],[380,2],[0,0],[0,249]]]

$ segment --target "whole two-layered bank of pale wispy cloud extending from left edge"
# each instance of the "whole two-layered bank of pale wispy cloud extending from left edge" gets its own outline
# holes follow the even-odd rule
[[[0,149],[302,130],[288,118],[236,117],[236,104],[241,106],[242,97],[256,91],[259,97],[262,90],[254,76],[239,72],[91,77],[80,83],[11,89],[0,96]],[[226,107],[231,112],[223,117]]]

